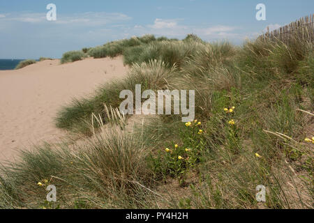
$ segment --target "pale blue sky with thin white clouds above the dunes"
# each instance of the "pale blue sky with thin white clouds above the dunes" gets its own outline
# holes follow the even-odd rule
[[[57,20],[48,21],[54,3]],[[264,3],[266,20],[255,17]],[[0,0],[0,59],[61,58],[64,52],[147,33],[241,45],[314,13],[313,0]]]

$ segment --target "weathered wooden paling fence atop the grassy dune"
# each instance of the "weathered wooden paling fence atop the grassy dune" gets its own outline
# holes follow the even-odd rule
[[[307,40],[314,43],[314,14],[282,26],[274,31],[269,31],[267,27],[267,33],[264,33],[259,38],[264,40],[281,40],[283,43],[289,43],[292,38],[300,38],[301,40]]]

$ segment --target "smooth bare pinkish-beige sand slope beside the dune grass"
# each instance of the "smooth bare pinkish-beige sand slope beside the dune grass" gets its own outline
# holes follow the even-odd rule
[[[121,56],[63,65],[47,60],[20,70],[0,70],[0,161],[12,160],[17,149],[64,137],[66,131],[54,125],[61,106],[127,71]]]

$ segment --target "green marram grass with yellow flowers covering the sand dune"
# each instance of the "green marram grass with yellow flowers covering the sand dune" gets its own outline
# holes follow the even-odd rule
[[[74,53],[73,53],[74,54]],[[64,54],[124,56],[128,76],[56,118],[83,142],[22,151],[0,170],[1,208],[313,208],[311,40],[241,47],[144,36]],[[194,89],[195,121],[121,116],[121,90]],[[111,107],[111,109],[110,109]],[[83,140],[84,139],[84,140]],[[47,185],[57,202],[47,202]],[[255,199],[266,187],[266,202]]]

